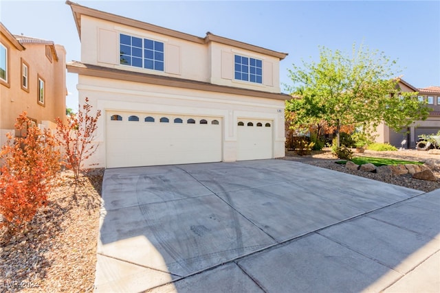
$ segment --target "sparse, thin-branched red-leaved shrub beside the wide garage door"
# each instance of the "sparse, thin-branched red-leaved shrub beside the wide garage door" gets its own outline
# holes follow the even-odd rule
[[[94,154],[98,144],[92,144],[96,122],[101,115],[98,110],[95,116],[90,115],[91,105],[89,98],[85,98],[83,110],[78,115],[71,113],[67,117],[67,125],[61,119],[56,119],[58,143],[63,146],[67,165],[72,166],[76,183],[78,183],[80,170],[83,169],[84,161]]]

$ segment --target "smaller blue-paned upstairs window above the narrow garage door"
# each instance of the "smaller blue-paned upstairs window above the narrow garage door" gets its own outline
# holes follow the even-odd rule
[[[259,59],[234,56],[234,77],[245,82],[263,83],[263,62]]]

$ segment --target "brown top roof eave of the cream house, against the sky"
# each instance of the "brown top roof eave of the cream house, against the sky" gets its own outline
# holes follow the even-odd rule
[[[80,38],[81,38],[81,16],[85,15],[85,16],[94,17],[96,19],[102,19],[104,21],[112,21],[114,23],[121,23],[123,25],[129,25],[131,27],[136,27],[141,30],[148,30],[150,32],[156,32],[158,34],[172,36],[174,38],[180,38],[182,40],[188,40],[188,41],[194,42],[194,43],[206,44],[206,43],[210,43],[210,42],[217,42],[217,43],[222,43],[222,44],[226,44],[226,45],[231,45],[231,46],[238,47],[241,49],[246,49],[249,51],[254,51],[257,53],[265,54],[267,56],[273,56],[273,57],[279,58],[280,60],[283,60],[288,55],[287,53],[282,53],[282,52],[273,51],[270,49],[265,49],[263,47],[258,47],[255,45],[243,43],[238,40],[224,38],[223,36],[217,36],[217,35],[211,34],[210,32],[207,32],[206,36],[204,38],[201,38],[199,36],[193,36],[191,34],[186,34],[184,32],[170,30],[165,27],[159,27],[158,25],[152,25],[151,23],[144,23],[142,21],[137,21],[135,19],[129,19],[124,16],[111,14],[108,12],[102,12],[100,10],[96,10],[93,8],[88,8],[86,6],[79,5],[78,3],[74,3],[69,0],[66,1],[66,4],[70,5],[70,8],[72,9],[72,14],[74,15],[76,29],[78,30],[78,35],[80,36]]]

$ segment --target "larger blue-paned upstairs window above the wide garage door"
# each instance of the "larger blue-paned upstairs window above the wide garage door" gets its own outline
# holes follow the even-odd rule
[[[164,43],[120,34],[120,64],[164,71]]]

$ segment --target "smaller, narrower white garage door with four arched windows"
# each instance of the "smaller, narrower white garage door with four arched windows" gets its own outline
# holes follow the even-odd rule
[[[237,161],[272,159],[272,121],[239,119]]]

